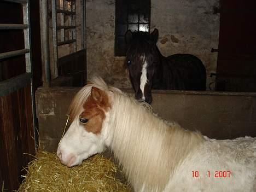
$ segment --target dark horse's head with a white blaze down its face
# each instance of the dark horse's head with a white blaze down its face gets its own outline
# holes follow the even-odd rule
[[[152,102],[152,82],[154,69],[158,63],[158,30],[147,32],[126,32],[126,62],[137,100]]]

